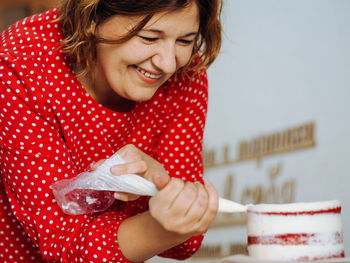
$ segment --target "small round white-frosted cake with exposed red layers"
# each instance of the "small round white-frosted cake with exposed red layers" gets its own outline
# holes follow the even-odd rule
[[[344,257],[339,201],[248,206],[248,254],[313,261]]]

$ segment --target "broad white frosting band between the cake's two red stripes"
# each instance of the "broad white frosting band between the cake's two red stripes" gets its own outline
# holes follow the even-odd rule
[[[248,213],[248,236],[341,231],[340,214],[283,216]]]

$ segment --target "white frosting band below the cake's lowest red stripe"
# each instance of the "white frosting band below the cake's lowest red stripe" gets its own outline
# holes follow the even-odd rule
[[[344,251],[343,244],[327,246],[280,246],[280,245],[251,245],[248,246],[249,256],[260,259],[297,260],[301,257],[327,258],[339,255]]]

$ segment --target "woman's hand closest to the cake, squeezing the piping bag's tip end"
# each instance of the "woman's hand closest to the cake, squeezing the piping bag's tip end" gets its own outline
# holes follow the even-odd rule
[[[172,178],[149,202],[150,214],[167,231],[188,237],[208,230],[218,211],[218,192],[211,183]]]

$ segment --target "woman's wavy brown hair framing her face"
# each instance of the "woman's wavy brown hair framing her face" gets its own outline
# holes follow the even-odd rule
[[[97,43],[123,43],[135,36],[155,13],[184,8],[195,2],[199,8],[199,34],[190,62],[199,63],[191,68],[198,72],[208,67],[217,57],[221,47],[222,0],[63,0],[58,20],[64,35],[63,50],[82,73],[87,73],[96,58]],[[92,28],[97,28],[114,15],[141,16],[141,21],[120,39],[97,38]],[[95,27],[91,25],[95,24]],[[186,71],[190,62],[183,68]]]

